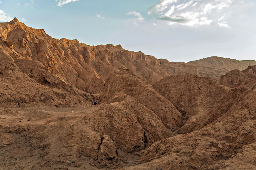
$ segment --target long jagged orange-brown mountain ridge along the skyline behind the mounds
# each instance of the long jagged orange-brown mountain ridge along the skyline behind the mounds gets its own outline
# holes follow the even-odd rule
[[[142,52],[124,50],[120,45],[89,46],[77,40],[54,39],[42,29],[25,26],[17,18],[0,24],[0,37],[1,51],[13,61],[27,59],[41,62],[52,76],[60,78],[67,85],[93,94],[99,94],[104,81],[120,67],[130,69],[153,85],[174,74],[192,72],[198,76],[218,79],[230,70],[244,70],[248,65],[256,65],[256,61],[221,57],[209,57],[189,63],[168,62]],[[28,67],[33,67],[32,64],[37,66],[36,62],[30,62]],[[30,77],[36,76],[30,73]]]

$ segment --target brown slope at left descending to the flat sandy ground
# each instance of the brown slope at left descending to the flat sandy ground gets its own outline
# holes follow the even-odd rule
[[[26,61],[32,64],[23,68],[25,72],[29,72],[25,74],[6,53],[0,51],[0,54],[1,107],[88,107],[91,105],[94,96],[67,85],[45,70],[42,63]],[[24,60],[17,60],[18,65],[22,65],[23,62]],[[30,71],[35,72],[34,78],[41,84],[29,77],[33,77]]]

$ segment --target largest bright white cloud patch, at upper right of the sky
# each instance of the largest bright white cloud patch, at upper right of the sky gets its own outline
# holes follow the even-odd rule
[[[160,0],[149,8],[148,14],[153,14],[169,25],[210,25],[213,21],[217,23],[218,18],[223,19],[216,16],[222,14],[221,10],[229,7],[232,2],[233,0]],[[219,25],[225,26],[225,24],[227,25],[222,22]]]

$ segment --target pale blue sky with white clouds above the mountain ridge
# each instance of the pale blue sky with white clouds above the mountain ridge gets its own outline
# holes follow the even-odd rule
[[[255,9],[255,0],[0,0],[0,22],[175,62],[256,60]]]

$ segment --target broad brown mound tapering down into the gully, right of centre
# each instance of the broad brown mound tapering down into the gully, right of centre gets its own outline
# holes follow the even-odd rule
[[[179,133],[189,133],[201,124],[228,88],[216,85],[211,78],[194,73],[178,74],[163,78],[153,85],[156,91],[171,101],[185,120]]]

